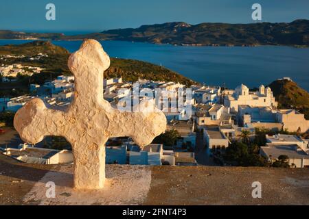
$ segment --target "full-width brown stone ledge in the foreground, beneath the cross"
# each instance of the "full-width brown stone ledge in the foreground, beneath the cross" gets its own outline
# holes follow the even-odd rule
[[[73,191],[72,166],[15,162],[0,155],[0,205],[309,205],[309,170],[208,166],[106,168],[106,189]],[[45,198],[45,181],[56,198]],[[262,183],[262,198],[251,184]]]

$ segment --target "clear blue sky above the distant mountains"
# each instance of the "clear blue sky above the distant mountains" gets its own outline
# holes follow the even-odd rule
[[[56,5],[56,21],[45,20],[45,5]],[[251,5],[262,5],[266,22],[309,19],[308,0],[1,0],[0,29],[103,31],[184,21],[253,23]]]

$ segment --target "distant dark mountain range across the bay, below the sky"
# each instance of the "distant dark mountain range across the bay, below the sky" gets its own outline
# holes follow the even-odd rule
[[[190,25],[172,22],[142,25],[138,28],[111,29],[101,33],[65,36],[64,34],[32,34],[0,31],[0,38],[41,38],[54,40],[125,40],[176,45],[254,46],[288,45],[309,46],[309,20],[291,23],[201,23]]]

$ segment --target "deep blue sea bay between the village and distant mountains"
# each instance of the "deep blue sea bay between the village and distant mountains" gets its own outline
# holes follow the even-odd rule
[[[22,44],[32,40],[0,40],[3,44]],[[81,40],[52,41],[70,52]],[[260,47],[182,47],[144,42],[100,41],[111,57],[142,60],[174,70],[208,86],[249,88],[267,86],[275,79],[290,77],[309,91],[309,48]]]

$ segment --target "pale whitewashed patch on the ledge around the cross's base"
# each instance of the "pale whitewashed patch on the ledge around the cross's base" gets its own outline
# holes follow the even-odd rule
[[[56,184],[55,198],[47,198],[46,183]],[[52,170],[28,192],[23,203],[31,205],[141,205],[150,190],[149,166],[107,165],[106,182],[100,190],[73,190],[71,165]],[[124,192],[126,191],[126,192]]]

